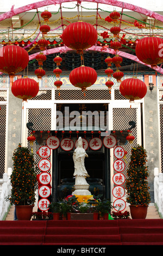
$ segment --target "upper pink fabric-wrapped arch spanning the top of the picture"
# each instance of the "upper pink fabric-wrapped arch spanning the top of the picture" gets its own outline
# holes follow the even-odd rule
[[[12,5],[10,11],[0,15],[0,21],[9,19],[14,15],[24,13],[24,11],[34,10],[44,6],[53,5],[53,4],[56,5],[56,4],[66,3],[66,2],[74,2],[74,0],[43,0],[37,3],[24,5],[23,7],[16,8],[16,9],[14,9],[14,5]],[[137,5],[117,1],[117,0],[78,0],[77,2],[93,2],[93,3],[113,5],[116,7],[120,7],[122,9],[136,11],[136,13],[141,13],[146,16],[152,17],[155,20],[159,20],[163,22],[163,16],[158,13],[155,13],[154,11],[138,7]]]

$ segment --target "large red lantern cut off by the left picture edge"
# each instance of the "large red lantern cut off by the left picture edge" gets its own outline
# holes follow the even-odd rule
[[[0,71],[10,77],[25,69],[29,62],[28,52],[20,46],[7,45],[0,51]]]

